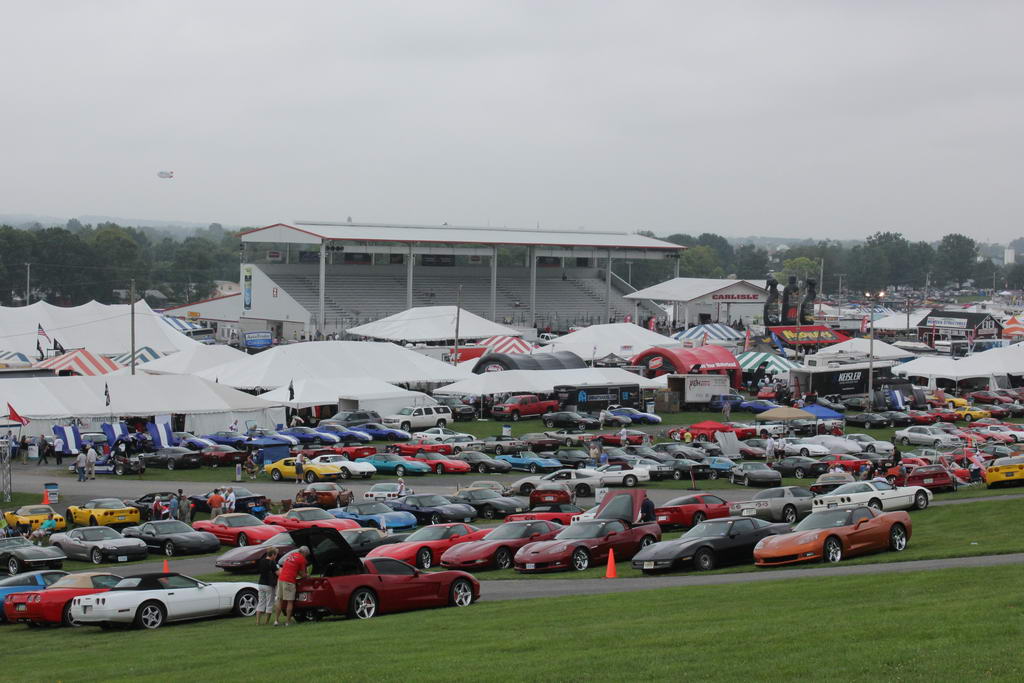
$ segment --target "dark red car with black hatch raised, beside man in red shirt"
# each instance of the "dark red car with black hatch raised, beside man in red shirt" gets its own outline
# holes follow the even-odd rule
[[[370,618],[422,607],[468,607],[480,597],[480,583],[465,571],[421,572],[390,557],[360,560],[333,528],[290,533],[296,546],[312,550],[311,570],[321,574],[296,585],[295,612],[300,618]]]

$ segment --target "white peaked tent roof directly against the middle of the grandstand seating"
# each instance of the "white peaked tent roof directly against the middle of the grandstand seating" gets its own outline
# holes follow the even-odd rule
[[[367,323],[345,332],[394,342],[428,342],[455,339],[456,306],[422,306]],[[519,337],[512,328],[492,323],[465,308],[459,314],[459,339],[495,336]]]

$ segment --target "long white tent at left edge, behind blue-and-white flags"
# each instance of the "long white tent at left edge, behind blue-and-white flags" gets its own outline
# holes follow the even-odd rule
[[[83,430],[98,430],[119,417],[184,415],[185,429],[199,432],[226,429],[234,421],[273,426],[285,420],[280,403],[187,375],[11,378],[0,382],[0,404],[8,402],[32,420],[28,434],[48,433],[71,418]]]

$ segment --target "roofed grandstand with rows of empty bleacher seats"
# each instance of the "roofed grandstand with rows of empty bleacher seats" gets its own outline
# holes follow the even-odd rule
[[[664,318],[614,273],[616,259],[675,259],[679,245],[625,231],[527,230],[381,223],[275,223],[242,233],[241,332],[300,339],[345,330],[414,306],[462,305],[517,328]],[[678,265],[677,265],[678,270]],[[205,319],[204,303],[187,308]],[[172,313],[173,314],[173,313]],[[213,312],[211,311],[211,316]]]

